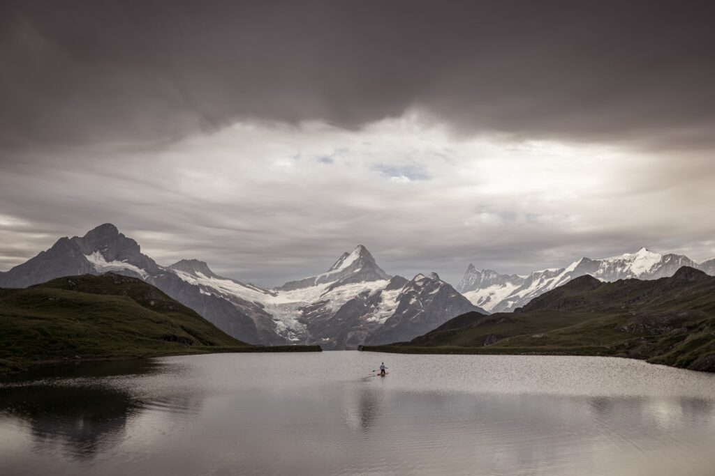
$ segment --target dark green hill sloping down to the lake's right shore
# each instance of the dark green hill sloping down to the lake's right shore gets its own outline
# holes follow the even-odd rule
[[[713,372],[715,278],[688,267],[659,280],[582,276],[514,313],[468,313],[409,343],[363,350],[614,355]]]

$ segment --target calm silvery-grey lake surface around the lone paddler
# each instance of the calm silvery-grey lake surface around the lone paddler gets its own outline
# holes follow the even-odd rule
[[[54,368],[0,383],[0,475],[46,474],[711,476],[715,375],[358,352]]]

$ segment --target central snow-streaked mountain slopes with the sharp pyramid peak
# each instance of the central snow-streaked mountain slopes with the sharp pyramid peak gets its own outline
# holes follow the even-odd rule
[[[272,331],[290,343],[318,343],[323,348],[354,348],[390,319],[394,327],[395,315],[410,309],[418,308],[412,316],[413,327],[418,323],[423,327],[436,323],[436,327],[455,317],[454,312],[481,310],[434,273],[418,275],[410,282],[399,276],[390,278],[363,245],[343,253],[325,273],[273,290],[222,278],[198,260],[182,260],[169,269],[202,293],[239,306],[254,318],[260,331]],[[423,281],[433,283],[430,290],[415,291]],[[446,287],[450,292],[440,295]],[[410,298],[405,300],[407,294]],[[438,299],[443,302],[437,304]],[[414,337],[403,328],[405,325],[391,335]]]

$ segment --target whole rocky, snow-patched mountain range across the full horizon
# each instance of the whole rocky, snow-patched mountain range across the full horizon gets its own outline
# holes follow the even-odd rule
[[[694,263],[684,255],[641,248],[614,258],[581,258],[566,268],[529,275],[469,265],[455,289],[436,273],[410,280],[391,276],[358,245],[325,273],[264,289],[217,275],[197,259],[159,265],[135,240],[106,223],[82,237],[60,238],[49,250],[0,273],[0,287],[25,288],[67,275],[112,271],[156,286],[247,343],[319,344],[327,350],[410,340],[470,311],[511,312],[582,275],[603,281],[649,280],[673,275],[681,266],[715,274],[715,260]]]

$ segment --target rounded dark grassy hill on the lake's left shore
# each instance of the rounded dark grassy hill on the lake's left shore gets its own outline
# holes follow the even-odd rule
[[[319,349],[248,345],[127,276],[71,276],[0,289],[0,372],[56,360],[280,350]]]

